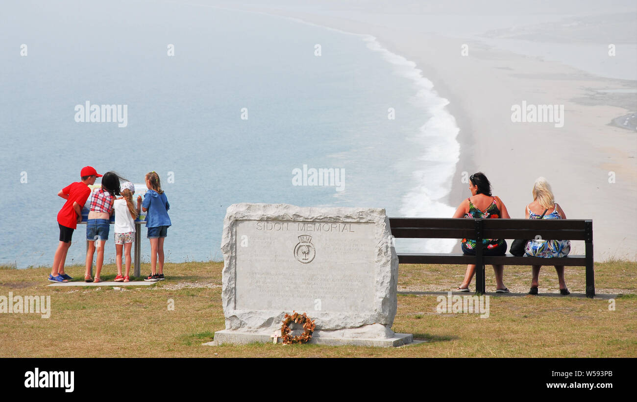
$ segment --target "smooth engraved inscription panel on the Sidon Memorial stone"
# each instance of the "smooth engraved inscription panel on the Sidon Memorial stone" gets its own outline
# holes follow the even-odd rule
[[[371,312],[375,295],[373,223],[235,223],[239,310]],[[308,234],[311,232],[311,235]]]

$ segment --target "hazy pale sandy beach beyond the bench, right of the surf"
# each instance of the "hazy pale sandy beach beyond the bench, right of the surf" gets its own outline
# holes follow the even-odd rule
[[[448,111],[460,128],[461,156],[452,191],[442,202],[460,204],[469,196],[463,172],[482,171],[510,216],[524,218],[533,200],[533,182],[544,176],[567,218],[593,219],[596,260],[637,260],[637,137],[634,130],[611,125],[636,111],[637,81],[602,78],[543,57],[430,32],[426,24],[417,24],[408,4],[392,4],[387,18],[378,8],[345,4],[301,11],[293,6],[226,6],[369,34],[390,52],[415,62],[434,90],[448,99]],[[423,18],[431,20],[435,13]],[[461,54],[463,45],[466,55]],[[605,52],[601,48],[599,57],[608,57]],[[563,105],[564,119],[512,121],[513,105],[523,102]],[[571,253],[583,254],[583,242],[573,242]]]

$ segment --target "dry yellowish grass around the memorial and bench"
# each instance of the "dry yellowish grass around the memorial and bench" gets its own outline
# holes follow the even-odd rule
[[[3,357],[636,357],[637,263],[596,265],[596,290],[606,298],[495,296],[490,317],[436,314],[433,293],[402,293],[394,331],[426,340],[401,348],[318,345],[202,346],[224,329],[222,263],[167,264],[166,281],[150,288],[47,288],[46,268],[0,268],[0,295],[50,295],[49,319],[39,314],[0,314]],[[142,272],[146,272],[143,267]],[[82,278],[82,267],[67,272]],[[104,273],[115,272],[106,266]],[[462,266],[401,265],[399,291],[455,288]],[[113,274],[103,274],[104,280]],[[506,267],[505,284],[526,293],[530,267]],[[573,294],[584,293],[583,268],[567,268]],[[487,270],[487,291],[493,291]],[[543,268],[540,293],[557,293],[552,267]],[[621,296],[610,296],[622,293]],[[608,309],[615,297],[616,310]],[[173,299],[175,310],[168,310]]]

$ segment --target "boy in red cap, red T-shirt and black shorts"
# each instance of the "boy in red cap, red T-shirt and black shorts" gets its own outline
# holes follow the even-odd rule
[[[92,166],[83,167],[80,176],[82,181],[71,183],[57,193],[66,200],[66,203],[57,214],[57,224],[60,226],[60,243],[55,250],[51,274],[48,275],[48,280],[51,282],[68,282],[69,279],[73,279],[64,274],[66,253],[71,247],[73,230],[77,228],[78,223],[82,222],[82,208],[90,195],[89,185],[95,184],[97,177],[102,177]]]

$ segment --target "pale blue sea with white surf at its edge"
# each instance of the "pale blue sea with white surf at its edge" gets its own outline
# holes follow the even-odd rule
[[[220,260],[225,210],[237,202],[451,216],[457,127],[409,60],[370,36],[150,4],[20,2],[0,17],[0,265],[52,264],[57,192],[85,165],[133,183],[159,174],[170,262]],[[77,122],[86,101],[127,105],[127,125]],[[341,169],[343,191],[295,186],[304,165]],[[85,239],[78,225],[67,265],[84,263]],[[111,226],[105,262],[114,256]]]

